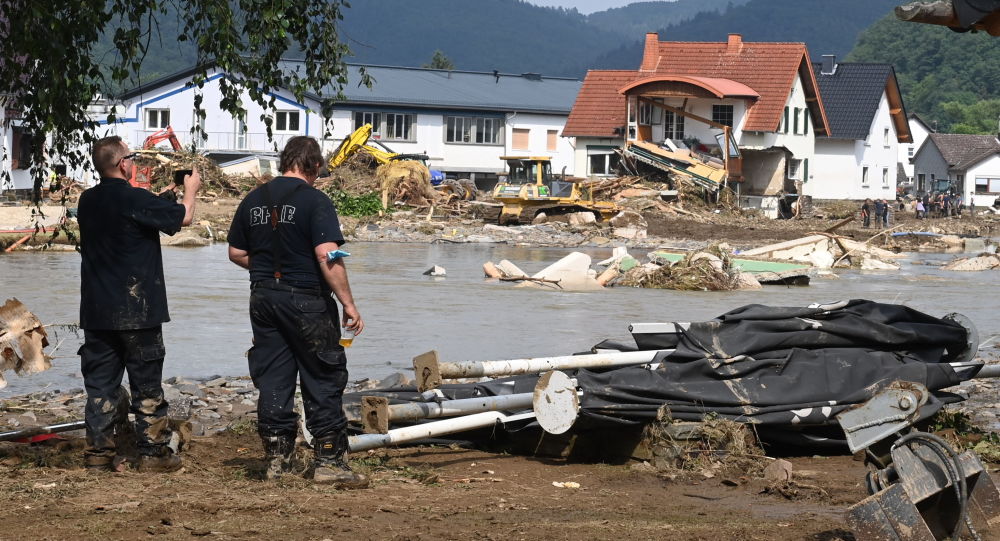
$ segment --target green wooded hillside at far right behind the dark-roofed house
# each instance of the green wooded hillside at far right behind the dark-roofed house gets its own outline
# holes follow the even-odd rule
[[[908,113],[938,131],[997,133],[1000,38],[961,34],[889,15],[861,34],[847,58],[896,69]]]

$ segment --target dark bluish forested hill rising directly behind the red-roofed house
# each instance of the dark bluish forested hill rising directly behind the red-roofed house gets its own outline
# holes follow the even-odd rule
[[[899,5],[899,0],[750,0],[722,13],[703,12],[691,20],[659,29],[663,41],[725,41],[731,33],[744,41],[804,42],[813,59],[846,55],[858,35]],[[643,36],[601,56],[592,68],[627,69],[642,59]]]

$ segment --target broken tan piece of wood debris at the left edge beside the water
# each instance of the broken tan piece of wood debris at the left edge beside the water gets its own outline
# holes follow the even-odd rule
[[[0,306],[0,389],[7,386],[7,370],[18,375],[48,370],[52,361],[43,351],[48,345],[42,322],[21,301],[9,299]]]

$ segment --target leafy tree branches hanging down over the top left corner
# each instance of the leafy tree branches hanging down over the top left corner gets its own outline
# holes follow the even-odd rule
[[[99,94],[136,86],[156,41],[194,45],[198,67],[190,84],[199,88],[216,66],[239,74],[219,85],[220,106],[236,118],[246,117],[244,91],[267,110],[274,104],[269,93],[278,88],[299,101],[308,91],[322,96],[320,112],[329,118],[347,82],[344,57],[350,51],[337,30],[346,7],[346,0],[0,0],[0,96],[6,95],[7,109],[20,112],[25,132],[46,141],[31,148],[36,200],[47,155],[89,167],[97,123],[88,104]],[[161,24],[170,17],[175,26]],[[110,50],[99,50],[108,37]],[[276,69],[289,55],[302,58],[301,72]],[[330,84],[336,95],[324,95]],[[200,96],[195,107],[204,114]],[[114,114],[107,120],[113,122]]]

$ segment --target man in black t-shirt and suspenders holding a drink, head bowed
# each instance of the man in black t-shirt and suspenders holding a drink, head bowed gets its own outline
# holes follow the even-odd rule
[[[229,229],[229,259],[250,271],[253,347],[250,377],[260,391],[258,427],[266,476],[291,469],[298,433],[292,411],[302,386],[306,427],[314,437],[313,479],[343,488],[368,484],[351,471],[342,398],[347,357],[340,326],[361,334],[343,258],[329,260],[344,237],[330,198],[312,187],[323,154],[312,137],[293,137],[281,152],[281,176],[250,192]],[[338,318],[336,296],[344,307]]]

